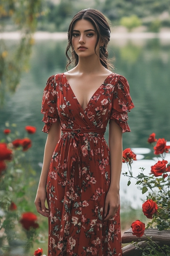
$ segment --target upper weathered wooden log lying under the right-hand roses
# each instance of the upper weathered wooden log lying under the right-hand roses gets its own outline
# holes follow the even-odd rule
[[[155,228],[145,229],[145,234],[147,237],[150,237],[155,242],[160,242],[161,244],[170,245],[170,230],[159,231]],[[128,229],[123,233],[122,243],[131,243],[131,242],[140,242],[147,241],[148,238],[145,235],[142,237],[133,236],[132,229]]]

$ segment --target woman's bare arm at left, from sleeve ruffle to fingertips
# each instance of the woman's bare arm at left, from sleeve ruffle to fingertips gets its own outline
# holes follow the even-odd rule
[[[46,141],[45,150],[44,150],[43,167],[41,170],[39,185],[38,185],[37,194],[35,198],[35,206],[36,206],[37,212],[46,217],[49,216],[48,209],[45,207],[48,171],[49,171],[51,157],[53,155],[56,144],[60,139],[60,137],[61,137],[61,126],[60,126],[60,121],[58,120],[56,123],[54,123],[51,126],[48,132],[47,141]]]

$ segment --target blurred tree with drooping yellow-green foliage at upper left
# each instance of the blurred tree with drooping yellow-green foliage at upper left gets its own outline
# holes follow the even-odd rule
[[[28,70],[33,33],[37,18],[43,15],[42,0],[1,0],[0,32],[9,26],[20,31],[20,39],[15,47],[6,40],[0,42],[0,101],[6,91],[15,91],[23,71]]]

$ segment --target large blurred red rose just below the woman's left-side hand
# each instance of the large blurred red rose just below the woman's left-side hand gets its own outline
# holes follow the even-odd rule
[[[37,216],[32,212],[22,213],[22,217],[20,219],[20,223],[23,228],[29,230],[31,227],[38,228],[39,225],[36,223]]]

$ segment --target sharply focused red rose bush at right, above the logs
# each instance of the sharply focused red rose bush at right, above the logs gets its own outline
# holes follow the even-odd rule
[[[157,228],[158,230],[170,230],[170,163],[165,160],[169,153],[170,146],[167,141],[155,139],[155,133],[150,134],[148,143],[153,144],[154,155],[157,155],[157,162],[148,170],[148,175],[144,174],[144,168],[139,168],[140,172],[134,176],[131,168],[133,160],[136,160],[136,155],[130,148],[123,151],[122,162],[126,162],[128,172],[122,173],[129,178],[128,186],[131,184],[131,179],[136,180],[136,185],[140,185],[142,194],[147,194],[147,200],[142,204],[143,214],[151,219],[147,222],[146,228]],[[129,157],[128,157],[129,156]],[[150,190],[150,191],[149,191]],[[137,237],[145,235],[145,224],[139,220],[132,223],[133,235]],[[168,245],[159,246],[158,243],[148,238],[147,246],[142,249],[142,256],[154,255],[162,256],[169,255],[170,247]],[[140,247],[135,243],[136,247]]]

